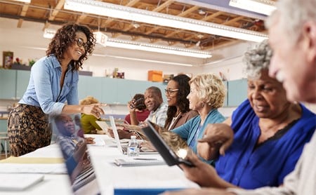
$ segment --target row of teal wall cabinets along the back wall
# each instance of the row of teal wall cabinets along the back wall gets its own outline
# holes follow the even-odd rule
[[[29,83],[29,71],[0,69],[0,99],[20,100]],[[224,81],[227,94],[224,107],[237,107],[246,100],[247,80]],[[126,105],[136,93],[144,93],[146,88],[157,86],[162,90],[166,102],[164,88],[166,83],[152,81],[135,81],[127,79],[110,79],[79,75],[79,100],[91,95],[107,104]]]

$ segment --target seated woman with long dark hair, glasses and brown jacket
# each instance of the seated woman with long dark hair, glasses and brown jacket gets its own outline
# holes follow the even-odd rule
[[[197,116],[197,112],[189,107],[187,95],[190,93],[190,77],[180,74],[171,79],[165,89],[168,102],[167,119],[164,129],[172,130]]]

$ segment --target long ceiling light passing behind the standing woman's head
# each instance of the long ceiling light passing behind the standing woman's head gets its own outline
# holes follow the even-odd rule
[[[55,29],[45,29],[44,30],[44,37],[48,39],[52,39],[55,35]],[[103,34],[103,32],[93,32],[94,36],[96,37],[96,43],[99,43],[101,46],[109,46],[114,48],[126,48],[126,49],[134,49],[140,51],[150,51],[150,52],[157,52],[157,53],[166,53],[166,54],[173,54],[173,55],[183,55],[189,56],[193,58],[211,58],[211,52],[209,51],[199,51],[199,50],[192,50],[186,48],[178,48],[178,47],[171,47],[171,46],[161,46],[152,43],[143,43],[137,41],[128,41],[123,39],[111,39],[108,38],[107,35]]]

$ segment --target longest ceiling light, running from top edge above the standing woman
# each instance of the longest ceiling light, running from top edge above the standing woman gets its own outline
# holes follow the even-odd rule
[[[234,39],[261,42],[268,39],[267,34],[254,32],[237,27],[218,25],[212,22],[183,18],[175,15],[146,11],[138,8],[108,4],[102,1],[66,0],[64,8],[72,11],[104,15],[112,18],[145,22],[153,25],[161,25],[178,29],[187,29],[194,32],[216,34]]]

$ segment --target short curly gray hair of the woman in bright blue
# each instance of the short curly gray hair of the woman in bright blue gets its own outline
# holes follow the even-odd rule
[[[272,58],[272,49],[268,40],[259,43],[256,48],[250,49],[244,53],[244,73],[248,78],[258,79],[263,69],[269,69]]]

